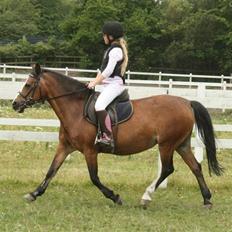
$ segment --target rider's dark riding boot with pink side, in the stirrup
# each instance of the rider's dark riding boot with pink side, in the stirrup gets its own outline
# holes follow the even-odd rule
[[[96,111],[98,122],[100,124],[101,136],[96,143],[114,147],[114,140],[111,127],[111,119],[106,110]]]

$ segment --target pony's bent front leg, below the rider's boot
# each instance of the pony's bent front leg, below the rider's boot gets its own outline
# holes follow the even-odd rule
[[[118,194],[114,194],[114,192],[107,187],[105,187],[99,177],[98,177],[98,163],[97,163],[97,152],[88,151],[84,152],[86,163],[89,170],[89,175],[92,183],[101,190],[105,197],[111,199],[114,203],[122,205],[122,200]]]

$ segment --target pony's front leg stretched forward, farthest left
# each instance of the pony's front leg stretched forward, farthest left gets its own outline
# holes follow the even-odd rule
[[[43,193],[47,189],[50,181],[56,175],[58,169],[60,168],[60,166],[64,162],[65,158],[72,151],[73,151],[73,149],[70,146],[67,146],[67,144],[64,144],[62,142],[59,143],[55,157],[51,163],[51,166],[46,174],[45,179],[33,192],[28,193],[24,196],[24,198],[26,200],[35,201],[38,196],[43,195]]]

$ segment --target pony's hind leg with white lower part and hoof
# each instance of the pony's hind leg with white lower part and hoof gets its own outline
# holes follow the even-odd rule
[[[174,171],[173,167],[173,153],[174,148],[170,145],[159,145],[160,159],[161,159],[161,173],[145,190],[141,205],[144,209],[150,203],[151,194],[159,187],[159,185]]]

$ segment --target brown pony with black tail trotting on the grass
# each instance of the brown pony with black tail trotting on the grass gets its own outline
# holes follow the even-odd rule
[[[68,154],[78,150],[85,156],[93,184],[105,197],[122,204],[120,196],[104,186],[98,177],[99,150],[94,144],[97,129],[83,116],[89,92],[84,83],[50,70],[42,70],[36,64],[13,101],[13,108],[19,113],[34,103],[48,101],[60,120],[59,144],[55,157],[45,179],[35,191],[26,195],[27,200],[34,201],[41,196]],[[135,154],[158,144],[162,163],[160,177],[146,189],[142,197],[143,206],[146,207],[151,200],[150,194],[174,171],[173,153],[177,151],[195,175],[204,205],[210,207],[211,193],[190,144],[195,123],[206,147],[209,172],[216,175],[222,173],[216,158],[212,122],[206,108],[199,102],[169,95],[133,100],[132,104],[134,114],[128,121],[118,125],[114,154]]]

